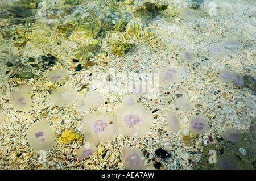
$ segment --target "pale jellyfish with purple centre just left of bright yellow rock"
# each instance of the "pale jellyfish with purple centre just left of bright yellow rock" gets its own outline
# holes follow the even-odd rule
[[[27,142],[35,151],[51,150],[55,145],[55,136],[46,120],[36,122],[34,127],[28,128]]]

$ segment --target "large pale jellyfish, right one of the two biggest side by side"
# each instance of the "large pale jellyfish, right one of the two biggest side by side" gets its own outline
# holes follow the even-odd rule
[[[153,115],[146,110],[137,99],[125,97],[123,103],[115,111],[115,120],[119,125],[119,133],[134,138],[144,137],[150,131]],[[129,106],[130,105],[130,106]]]

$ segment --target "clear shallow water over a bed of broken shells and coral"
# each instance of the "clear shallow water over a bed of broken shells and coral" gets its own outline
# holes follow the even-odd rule
[[[255,169],[254,1],[0,5],[1,169],[125,169],[125,147],[143,153],[143,169]],[[223,70],[230,71],[230,81],[219,76]],[[20,90],[24,83],[32,91]],[[71,90],[58,93],[62,86]],[[13,91],[22,91],[32,105],[12,97]],[[125,95],[135,98],[123,101]],[[176,103],[181,96],[189,102],[185,106]],[[100,125],[83,122],[100,111],[110,115],[98,115]],[[173,123],[177,132],[169,127],[169,111],[179,119]],[[124,112],[129,116],[117,120]],[[198,124],[203,133],[193,131],[192,116],[208,124]],[[47,150],[36,150],[27,138],[39,120],[55,137]],[[108,133],[113,141],[92,139],[100,140],[93,144],[97,149],[78,159],[79,148],[90,148],[86,136],[107,137],[84,133],[80,127],[86,124],[98,132],[116,124],[119,131]],[[226,129],[242,137],[229,141]],[[35,132],[36,138],[44,131]]]

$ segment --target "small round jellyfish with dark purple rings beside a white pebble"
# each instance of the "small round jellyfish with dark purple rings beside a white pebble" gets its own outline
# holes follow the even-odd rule
[[[209,125],[207,120],[201,116],[192,116],[189,118],[189,130],[195,134],[203,134],[208,132]]]

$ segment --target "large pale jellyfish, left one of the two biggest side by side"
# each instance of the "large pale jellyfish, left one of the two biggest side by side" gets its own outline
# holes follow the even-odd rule
[[[110,113],[96,111],[82,120],[80,131],[84,134],[86,141],[96,145],[100,142],[112,141],[118,133],[118,126]]]

